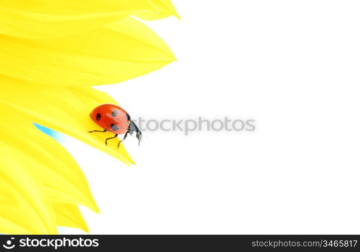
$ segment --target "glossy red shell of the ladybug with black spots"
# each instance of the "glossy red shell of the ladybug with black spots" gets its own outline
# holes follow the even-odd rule
[[[124,134],[129,127],[128,112],[114,104],[102,104],[94,108],[90,117],[102,129],[113,134]]]

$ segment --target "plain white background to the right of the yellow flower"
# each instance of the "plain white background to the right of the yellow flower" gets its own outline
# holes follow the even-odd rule
[[[178,61],[97,88],[132,117],[256,131],[144,132],[132,167],[68,138],[101,210],[82,208],[90,233],[359,233],[358,1],[173,4],[181,21],[147,24]]]

